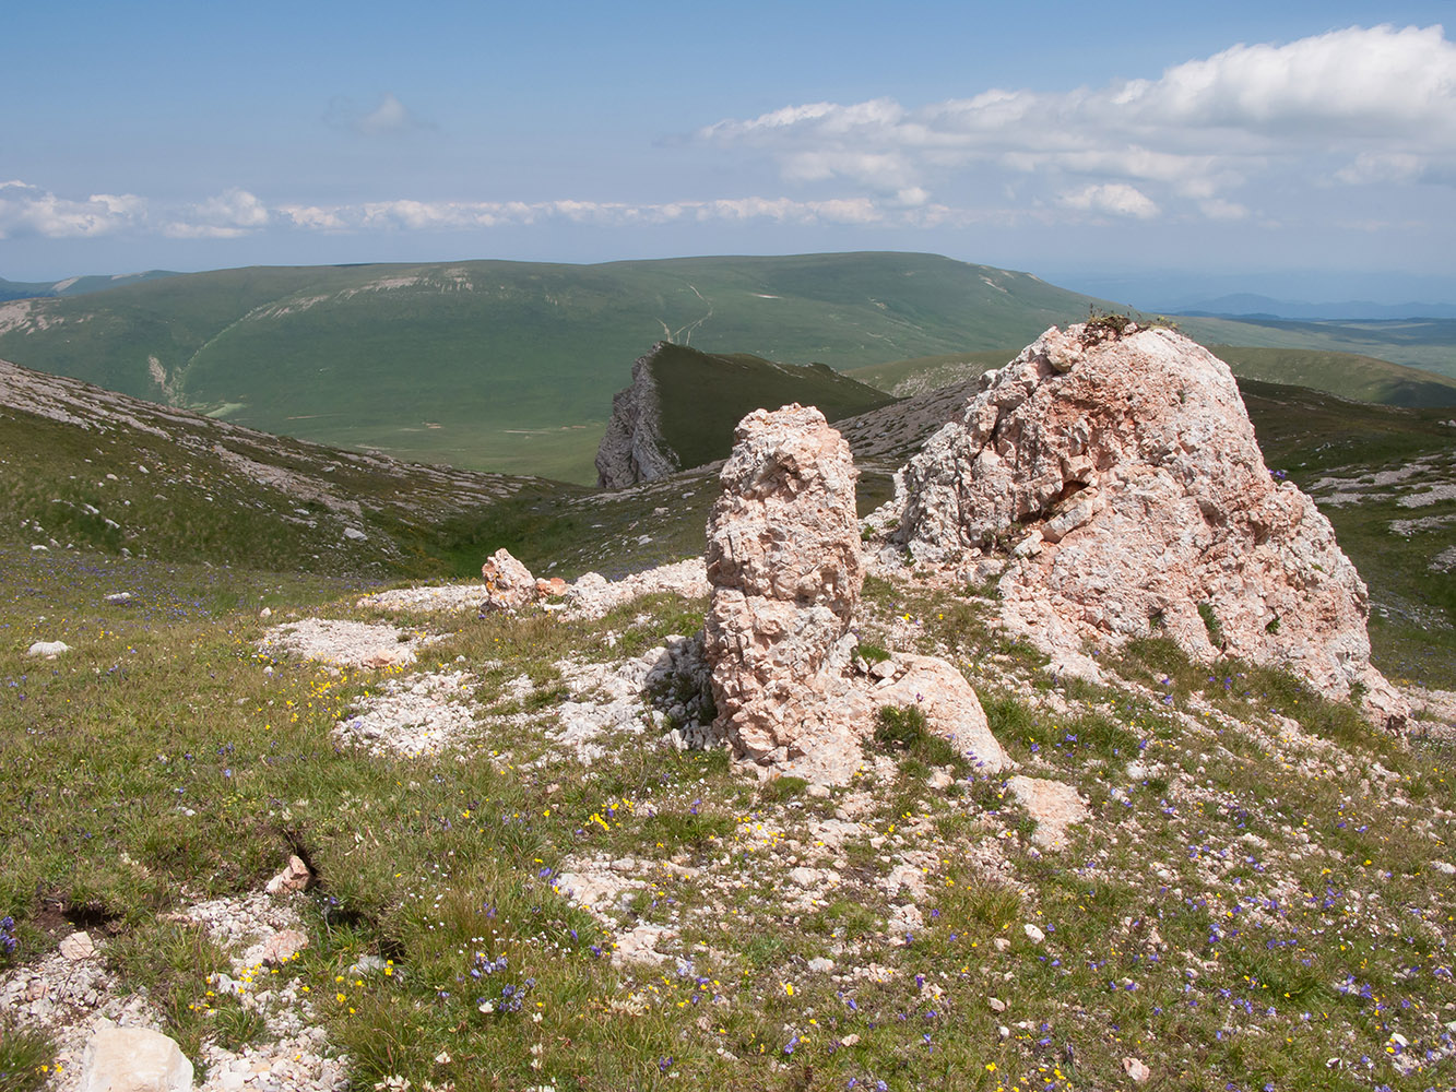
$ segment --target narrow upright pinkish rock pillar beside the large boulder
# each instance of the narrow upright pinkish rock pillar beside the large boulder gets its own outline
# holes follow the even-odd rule
[[[849,444],[814,408],[748,414],[708,520],[718,724],[760,761],[852,745],[815,712],[843,689],[865,574]],[[858,757],[858,747],[853,748]]]

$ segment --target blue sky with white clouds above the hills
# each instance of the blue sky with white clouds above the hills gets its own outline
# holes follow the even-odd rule
[[[1456,300],[1450,3],[9,7],[9,280],[897,249]]]

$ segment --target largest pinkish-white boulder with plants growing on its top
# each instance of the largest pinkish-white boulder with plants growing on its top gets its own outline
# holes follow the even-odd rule
[[[1010,547],[1003,617],[1053,651],[1166,633],[1406,713],[1329,521],[1270,475],[1229,367],[1172,331],[1047,331],[910,460],[894,505],[916,559]]]

